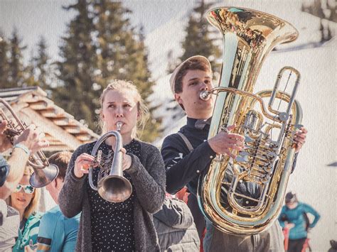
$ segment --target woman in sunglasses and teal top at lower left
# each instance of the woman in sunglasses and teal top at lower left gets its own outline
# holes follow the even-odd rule
[[[16,239],[13,251],[29,251],[36,248],[38,241],[38,226],[42,214],[37,212],[41,189],[34,188],[29,184],[33,168],[27,165],[23,177],[9,196],[9,206],[20,214],[20,226],[18,239]]]

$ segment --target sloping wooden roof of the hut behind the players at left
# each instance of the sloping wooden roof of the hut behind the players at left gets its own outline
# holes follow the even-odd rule
[[[21,121],[35,124],[46,134],[49,146],[43,150],[75,150],[100,137],[56,106],[40,87],[0,89],[0,97],[9,102]]]

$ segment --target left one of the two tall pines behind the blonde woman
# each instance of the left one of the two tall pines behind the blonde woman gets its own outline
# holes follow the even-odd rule
[[[75,119],[83,120],[90,128],[95,129],[95,100],[97,91],[95,83],[95,45],[92,42],[94,31],[92,15],[85,0],[64,7],[67,11],[76,11],[77,15],[68,24],[68,31],[63,36],[60,46],[62,60],[58,65],[58,79],[62,85],[53,89],[53,99]],[[96,102],[97,104],[97,102]]]

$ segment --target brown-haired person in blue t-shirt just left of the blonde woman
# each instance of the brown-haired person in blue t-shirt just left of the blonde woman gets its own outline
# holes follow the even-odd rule
[[[54,202],[58,204],[58,195],[64,184],[65,172],[71,153],[62,151],[48,158],[50,164],[58,166],[58,177],[46,186]],[[38,231],[38,251],[75,251],[80,214],[68,219],[58,205],[43,214]]]

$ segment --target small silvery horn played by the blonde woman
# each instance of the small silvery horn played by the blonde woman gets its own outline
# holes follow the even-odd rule
[[[100,139],[95,143],[94,148],[92,148],[91,155],[95,157],[95,162],[100,164],[102,158],[102,150],[98,150],[100,145],[109,137],[114,136],[116,138],[116,145],[114,151],[114,158],[112,160],[112,165],[110,168],[109,175],[102,177],[98,181],[97,187],[92,181],[92,167],[89,168],[89,184],[92,190],[98,191],[100,197],[107,200],[108,202],[124,202],[132,194],[132,185],[123,176],[122,158],[123,153],[121,148],[123,147],[122,136],[119,133],[122,128],[122,123],[117,122],[117,131],[109,131],[105,133]],[[98,152],[97,152],[98,150]]]

